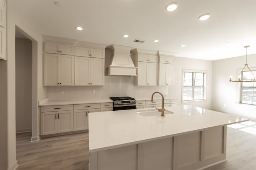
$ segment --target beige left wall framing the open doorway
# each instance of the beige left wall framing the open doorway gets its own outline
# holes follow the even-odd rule
[[[3,125],[7,125],[7,128],[1,134],[0,144],[1,148],[5,147],[7,152],[0,152],[1,169],[14,169],[17,166],[16,161],[16,127],[15,127],[15,28],[18,26],[22,29],[29,38],[37,42],[32,44],[32,114],[33,114],[33,136],[38,138],[38,100],[46,97],[46,88],[42,86],[42,36],[39,33],[40,28],[33,24],[29,18],[23,17],[18,14],[17,11],[12,7],[12,1],[7,1],[7,61],[1,61],[1,95],[0,102],[3,102],[3,108],[1,107],[1,123],[6,122]],[[36,46],[35,46],[36,45]],[[36,47],[36,50],[34,50]],[[3,87],[3,88],[2,88]],[[7,94],[7,96],[5,95]],[[3,113],[2,113],[3,111]],[[3,115],[2,115],[3,114]],[[5,114],[5,115],[4,115]],[[2,118],[4,118],[2,120]],[[2,126],[2,125],[1,125]],[[3,136],[3,137],[2,137]],[[6,138],[5,138],[6,136]],[[3,164],[2,160],[7,163],[7,166]]]

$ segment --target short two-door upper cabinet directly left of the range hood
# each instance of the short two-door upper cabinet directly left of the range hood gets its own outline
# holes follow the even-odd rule
[[[105,58],[105,49],[95,49],[88,47],[76,46],[76,56],[80,57],[94,57],[94,58]]]

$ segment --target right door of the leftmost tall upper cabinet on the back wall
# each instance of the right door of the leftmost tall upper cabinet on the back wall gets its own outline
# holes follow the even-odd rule
[[[60,85],[74,86],[75,57],[70,55],[60,55]]]

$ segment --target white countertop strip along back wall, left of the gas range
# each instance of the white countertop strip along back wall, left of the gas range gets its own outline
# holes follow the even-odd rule
[[[39,101],[39,106],[56,106],[56,105],[68,105],[68,104],[91,104],[91,103],[108,103],[113,102],[111,99],[86,99],[86,100],[56,100]]]

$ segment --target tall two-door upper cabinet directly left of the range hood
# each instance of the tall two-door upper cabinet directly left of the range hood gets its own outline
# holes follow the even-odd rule
[[[75,86],[103,86],[104,59],[76,56]]]

